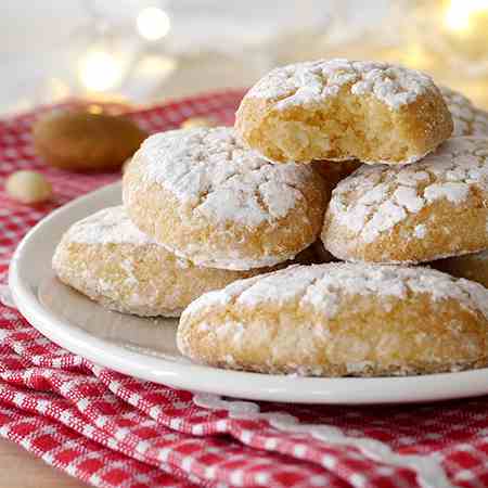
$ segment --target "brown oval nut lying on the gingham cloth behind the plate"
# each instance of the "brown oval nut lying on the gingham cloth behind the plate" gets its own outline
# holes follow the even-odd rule
[[[85,111],[51,113],[34,126],[37,154],[68,171],[118,169],[146,137],[127,118]]]

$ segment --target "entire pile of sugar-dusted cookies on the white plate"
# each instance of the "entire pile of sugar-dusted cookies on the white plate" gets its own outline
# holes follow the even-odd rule
[[[75,224],[53,262],[113,309],[184,308],[197,362],[432,373],[488,363],[488,290],[454,278],[484,262],[487,222],[486,113],[411,69],[319,61],[259,80],[234,128],[146,139],[124,207]],[[313,243],[346,262],[290,265]]]

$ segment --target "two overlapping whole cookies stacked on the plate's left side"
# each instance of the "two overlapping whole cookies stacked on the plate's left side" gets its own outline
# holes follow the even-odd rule
[[[227,127],[157,133],[124,176],[124,205],[76,222],[53,268],[111,310],[179,317],[235,280],[312,262],[330,197],[306,165],[273,165]]]

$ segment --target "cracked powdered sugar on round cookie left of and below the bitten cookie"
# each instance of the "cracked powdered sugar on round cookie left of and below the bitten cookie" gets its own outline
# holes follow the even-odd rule
[[[228,127],[157,133],[136,157],[144,162],[144,184],[162,185],[213,221],[246,227],[285,217],[304,198],[300,187],[312,175],[304,165],[267,162]]]

